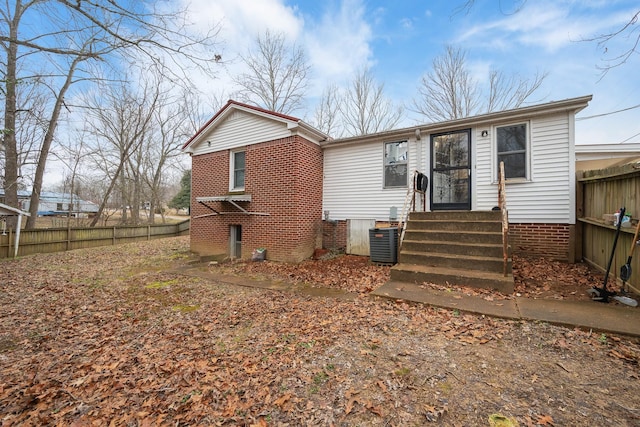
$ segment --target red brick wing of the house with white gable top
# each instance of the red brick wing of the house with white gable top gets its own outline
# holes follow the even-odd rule
[[[300,119],[229,101],[187,143],[191,250],[301,261],[322,245],[322,149]]]

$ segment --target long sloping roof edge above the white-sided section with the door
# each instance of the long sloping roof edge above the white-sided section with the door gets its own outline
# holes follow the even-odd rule
[[[586,95],[577,98],[569,98],[561,101],[552,101],[545,104],[536,104],[528,107],[515,108],[511,110],[496,111],[492,113],[480,114],[477,116],[465,117],[462,119],[448,120],[444,122],[429,123],[416,125],[402,129],[394,129],[369,135],[352,136],[348,138],[327,140],[321,144],[323,148],[333,146],[354,144],[360,142],[373,141],[390,141],[393,139],[410,138],[421,133],[430,134],[435,132],[447,132],[449,130],[460,129],[462,127],[471,127],[479,124],[488,124],[491,122],[513,119],[517,120],[523,117],[535,117],[549,113],[561,111],[573,111],[578,113],[589,105],[589,101],[593,99],[593,95]]]

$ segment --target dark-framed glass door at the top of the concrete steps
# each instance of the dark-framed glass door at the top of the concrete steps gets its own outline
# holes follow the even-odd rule
[[[431,210],[471,210],[471,129],[431,135]]]

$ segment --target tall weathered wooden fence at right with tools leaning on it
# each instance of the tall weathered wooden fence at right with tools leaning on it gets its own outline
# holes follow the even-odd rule
[[[577,259],[584,259],[605,270],[613,247],[616,228],[611,215],[625,207],[632,216],[631,227],[620,229],[610,277],[618,277],[627,262],[636,221],[640,219],[640,163],[629,163],[607,169],[580,172],[577,177]],[[582,251],[579,253],[578,251]],[[631,263],[629,283],[640,289],[640,247],[636,247]]]

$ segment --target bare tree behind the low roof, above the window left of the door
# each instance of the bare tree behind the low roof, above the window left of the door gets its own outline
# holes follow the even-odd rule
[[[367,135],[393,128],[402,119],[404,109],[384,95],[384,85],[376,83],[371,70],[359,71],[340,103],[345,134]]]

